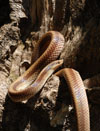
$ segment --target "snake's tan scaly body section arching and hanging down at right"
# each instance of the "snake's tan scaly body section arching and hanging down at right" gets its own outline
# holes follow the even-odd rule
[[[90,131],[88,101],[79,73],[74,69],[64,68],[55,73],[55,75],[64,76],[68,83],[76,109],[78,131]]]

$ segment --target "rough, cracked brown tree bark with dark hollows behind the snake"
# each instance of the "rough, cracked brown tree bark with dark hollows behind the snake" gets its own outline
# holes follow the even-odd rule
[[[65,37],[60,55],[63,67],[78,70],[83,79],[100,73],[99,18],[99,0],[0,1],[0,130],[77,130],[64,79],[49,78],[42,92],[27,103],[12,102],[7,90],[29,68],[34,45],[49,30],[60,31]],[[100,105],[94,104],[100,103],[100,88],[94,86],[98,87],[87,88],[91,131],[100,131]]]

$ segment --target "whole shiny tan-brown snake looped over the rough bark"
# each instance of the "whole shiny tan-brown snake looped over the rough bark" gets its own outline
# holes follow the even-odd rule
[[[28,100],[39,93],[47,79],[63,64],[56,60],[64,48],[64,37],[58,31],[48,31],[37,42],[32,55],[32,65],[8,88],[14,102]],[[64,68],[54,75],[64,77],[74,103],[78,131],[90,131],[88,99],[78,71]]]

